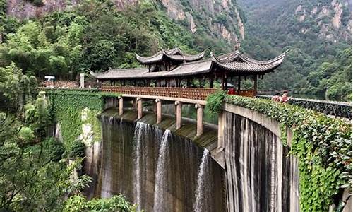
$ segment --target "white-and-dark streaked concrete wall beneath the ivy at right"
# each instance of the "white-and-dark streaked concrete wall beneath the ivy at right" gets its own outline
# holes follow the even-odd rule
[[[229,211],[299,211],[297,159],[280,141],[280,124],[229,104],[224,117]]]

